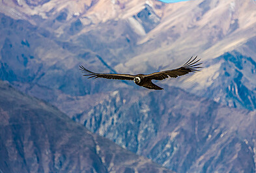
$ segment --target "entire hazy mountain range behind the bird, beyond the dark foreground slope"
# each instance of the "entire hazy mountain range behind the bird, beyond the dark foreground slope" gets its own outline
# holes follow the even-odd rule
[[[171,170],[255,172],[254,1],[3,0],[0,13],[0,77],[21,92]],[[202,72],[156,82],[163,92],[79,72],[151,73],[192,55]]]

